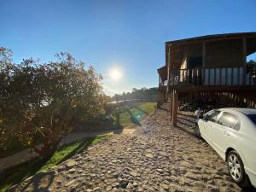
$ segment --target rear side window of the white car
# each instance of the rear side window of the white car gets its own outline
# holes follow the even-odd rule
[[[218,124],[239,130],[240,123],[236,115],[224,112],[218,119]]]

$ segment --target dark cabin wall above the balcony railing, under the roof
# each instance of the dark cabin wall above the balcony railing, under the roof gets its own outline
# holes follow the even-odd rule
[[[204,68],[244,67],[242,38],[206,41]],[[203,57],[203,42],[184,45],[182,53],[178,55],[180,68],[188,68],[189,57]]]

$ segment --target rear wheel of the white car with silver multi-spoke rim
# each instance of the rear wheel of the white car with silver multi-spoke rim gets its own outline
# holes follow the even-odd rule
[[[241,187],[247,187],[247,175],[241,157],[235,150],[228,154],[227,165],[232,180]]]

